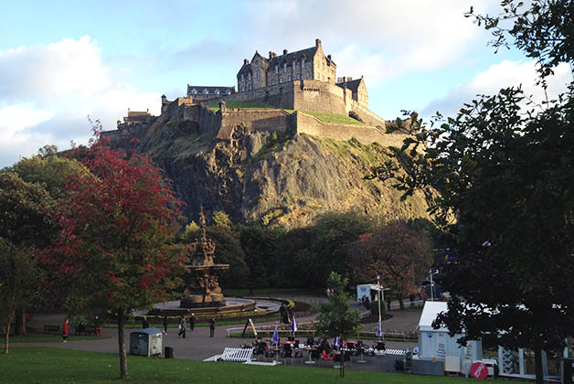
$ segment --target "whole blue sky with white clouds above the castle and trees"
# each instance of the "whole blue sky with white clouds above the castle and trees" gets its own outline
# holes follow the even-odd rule
[[[364,76],[369,109],[453,115],[476,94],[522,84],[536,98],[534,62],[494,48],[464,13],[497,0],[193,0],[5,2],[0,23],[0,168],[87,144],[90,120],[113,130],[127,109],[159,114],[186,85],[233,86],[243,59],[314,46],[337,77]],[[571,80],[558,67],[549,93]]]

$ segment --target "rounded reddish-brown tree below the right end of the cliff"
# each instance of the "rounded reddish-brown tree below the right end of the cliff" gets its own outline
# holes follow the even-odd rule
[[[431,263],[430,242],[424,233],[410,229],[404,220],[393,221],[359,240],[358,249],[351,261],[354,275],[372,281],[379,274],[383,286],[396,293],[400,309],[404,309],[404,297]]]

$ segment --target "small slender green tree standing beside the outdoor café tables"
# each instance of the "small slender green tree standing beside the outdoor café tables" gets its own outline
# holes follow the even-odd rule
[[[331,272],[327,279],[327,288],[333,290],[326,303],[319,304],[317,316],[317,333],[328,337],[340,337],[345,341],[348,337],[356,335],[359,326],[358,311],[351,309],[349,300],[351,296],[345,293],[348,279],[341,278],[337,272]],[[340,375],[345,376],[345,357],[341,355]]]

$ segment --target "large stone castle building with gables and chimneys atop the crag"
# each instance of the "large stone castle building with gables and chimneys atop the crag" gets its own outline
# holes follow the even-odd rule
[[[269,52],[269,58],[263,58],[258,51],[251,59],[243,60],[243,66],[237,75],[238,91],[252,91],[263,87],[294,80],[321,80],[335,83],[336,65],[331,55],[324,55],[321,40],[315,40],[315,46],[296,52],[287,52],[277,56]]]

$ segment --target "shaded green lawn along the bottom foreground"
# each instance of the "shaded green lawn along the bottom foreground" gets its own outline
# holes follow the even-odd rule
[[[175,384],[175,383],[385,383],[457,384],[468,379],[405,375],[309,367],[257,367],[239,363],[212,363],[180,359],[128,356],[129,379],[119,378],[119,358],[114,354],[48,347],[16,347],[0,354],[0,384]],[[494,382],[492,380],[484,380]],[[518,381],[513,381],[518,382]]]

